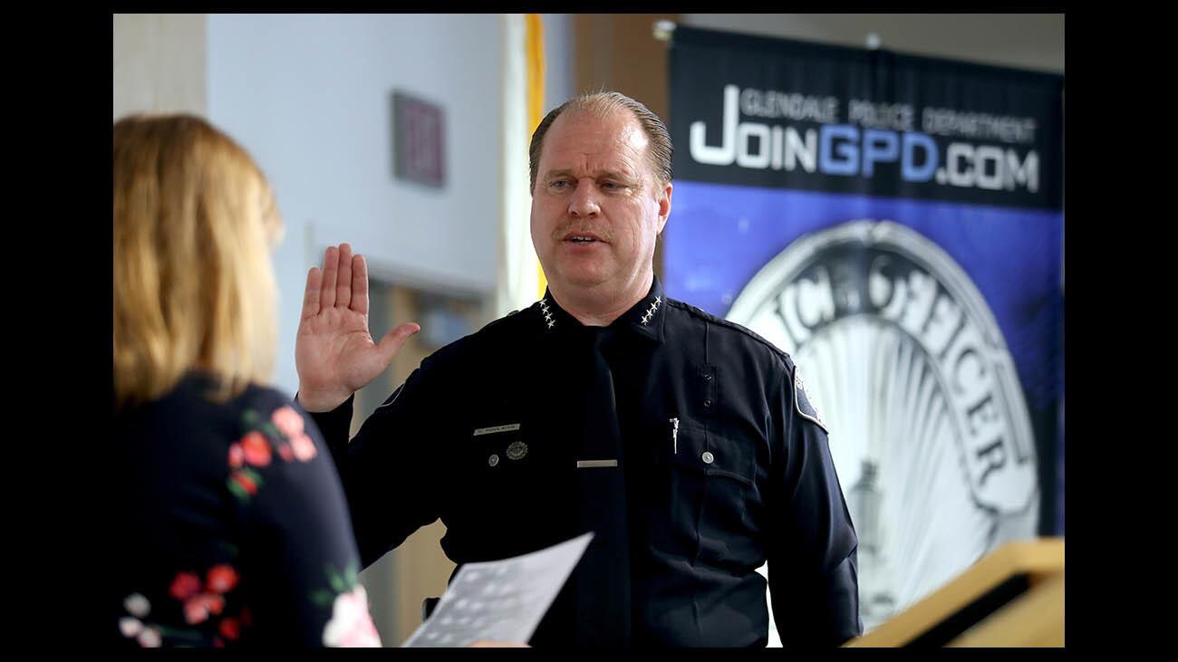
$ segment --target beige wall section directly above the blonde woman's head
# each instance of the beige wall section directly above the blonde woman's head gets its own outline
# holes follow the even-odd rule
[[[114,14],[114,119],[206,110],[205,14]]]

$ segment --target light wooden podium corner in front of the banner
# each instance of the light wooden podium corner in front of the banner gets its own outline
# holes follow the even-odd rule
[[[1061,647],[1064,539],[1013,542],[847,647]]]

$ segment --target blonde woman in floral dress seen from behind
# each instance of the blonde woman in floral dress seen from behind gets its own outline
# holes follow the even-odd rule
[[[118,558],[110,633],[141,647],[379,646],[329,451],[265,384],[262,171],[191,115],[114,124]]]

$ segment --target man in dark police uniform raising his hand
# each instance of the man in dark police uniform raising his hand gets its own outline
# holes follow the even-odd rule
[[[591,530],[534,646],[765,646],[766,561],[785,646],[859,635],[858,541],[790,358],[654,277],[663,123],[618,93],[577,98],[530,157],[544,298],[424,359],[350,444],[352,393],[418,326],[373,342],[346,244],[307,274],[297,398],[331,446],[364,564],[438,518],[459,565]]]

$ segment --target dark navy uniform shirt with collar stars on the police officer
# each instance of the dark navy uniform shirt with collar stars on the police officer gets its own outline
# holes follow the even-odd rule
[[[577,494],[574,439],[584,331],[545,294],[424,359],[350,444],[351,400],[313,415],[365,565],[438,518],[459,565],[583,532],[578,499],[593,496]],[[608,332],[616,408],[601,416],[616,417],[624,450],[617,468],[593,470],[624,475],[628,549],[608,554],[629,564],[627,646],[765,646],[766,561],[785,646],[861,634],[858,541],[789,356],[668,299],[657,278]],[[571,594],[593,582],[581,580],[534,646],[582,641]]]

